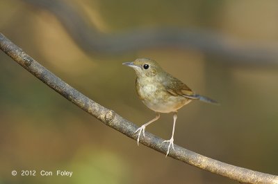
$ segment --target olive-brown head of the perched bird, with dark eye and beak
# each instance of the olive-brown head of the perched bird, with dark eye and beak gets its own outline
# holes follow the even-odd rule
[[[126,62],[123,64],[133,68],[138,77],[154,77],[162,71],[161,66],[157,62],[147,58],[140,58],[134,62]]]

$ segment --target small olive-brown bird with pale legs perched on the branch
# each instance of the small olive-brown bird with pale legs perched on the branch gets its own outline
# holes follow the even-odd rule
[[[183,84],[176,77],[165,72],[161,66],[152,59],[136,59],[134,62],[123,63],[130,66],[136,72],[136,91],[142,102],[156,112],[156,118],[150,120],[142,125],[135,133],[138,133],[138,145],[141,133],[145,137],[145,128],[147,125],[158,120],[160,113],[174,113],[174,124],[172,130],[172,137],[169,142],[167,154],[169,154],[170,147],[174,149],[174,127],[177,120],[177,110],[188,104],[192,100],[200,100],[203,102],[218,104],[210,98],[204,97],[194,93],[191,89]]]

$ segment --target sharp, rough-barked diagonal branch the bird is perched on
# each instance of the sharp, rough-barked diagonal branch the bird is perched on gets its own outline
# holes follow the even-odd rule
[[[35,77],[44,82],[44,84],[47,84],[51,89],[54,89],[54,91],[67,98],[67,100],[70,100],[70,102],[76,104],[76,106],[90,113],[90,115],[94,116],[101,122],[104,122],[104,124],[109,127],[112,127],[129,138],[136,140],[137,136],[134,134],[136,129],[138,129],[136,125],[125,120],[113,110],[106,109],[100,104],[87,98],[85,95],[48,71],[47,68],[44,68],[44,66],[36,62],[35,59],[24,53],[21,48],[10,42],[10,40],[1,33],[0,49]],[[142,138],[140,142],[162,154],[165,154],[167,151],[167,145],[162,143],[163,139],[154,136],[149,132],[145,133],[145,138]],[[174,147],[175,149],[171,149],[170,151],[170,157],[214,174],[234,179],[240,183],[278,183],[278,176],[222,163],[218,160],[202,156],[177,145],[174,145]]]

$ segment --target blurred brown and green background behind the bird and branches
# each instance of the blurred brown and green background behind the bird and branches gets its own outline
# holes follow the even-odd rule
[[[64,3],[102,35],[170,27],[219,33],[236,48],[277,48],[278,1]],[[65,82],[137,125],[154,118],[154,113],[138,99],[135,73],[122,62],[155,59],[191,89],[221,103],[217,107],[192,102],[180,109],[177,145],[225,163],[278,174],[278,62],[220,57],[221,52],[211,55],[190,46],[91,53],[72,39],[53,12],[31,1],[0,1],[0,31]],[[0,183],[237,183],[138,147],[3,52],[0,62]],[[172,115],[163,114],[147,131],[169,139]],[[12,176],[14,169],[19,174],[35,169],[37,176]],[[58,169],[73,175],[39,176],[40,170],[55,175]]]

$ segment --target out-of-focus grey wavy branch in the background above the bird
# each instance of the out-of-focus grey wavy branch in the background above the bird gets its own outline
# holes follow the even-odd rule
[[[239,42],[211,30],[193,28],[135,28],[128,32],[117,33],[117,35],[109,35],[99,32],[94,25],[89,24],[85,16],[81,15],[81,11],[76,10],[77,7],[71,4],[73,1],[24,1],[31,6],[53,13],[76,44],[87,53],[121,55],[145,48],[171,46],[195,49],[206,55],[225,58],[220,59],[222,62],[278,65],[277,44],[254,45]]]

